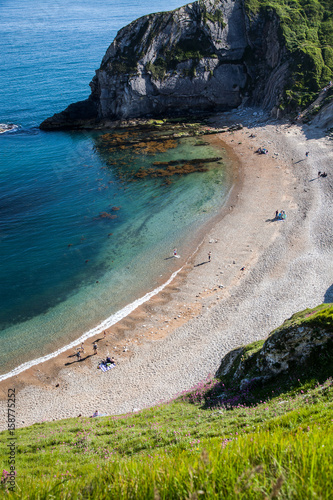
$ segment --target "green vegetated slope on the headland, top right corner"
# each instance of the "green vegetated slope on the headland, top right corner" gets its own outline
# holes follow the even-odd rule
[[[333,77],[332,0],[245,0],[251,18],[274,9],[292,55],[284,106],[305,107]]]

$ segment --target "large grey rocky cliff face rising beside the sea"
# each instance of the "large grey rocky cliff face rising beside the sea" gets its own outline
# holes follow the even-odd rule
[[[243,0],[202,0],[144,16],[119,31],[87,101],[41,128],[93,127],[135,117],[272,108],[288,77],[274,11],[251,19]]]

